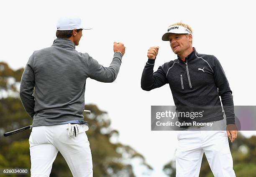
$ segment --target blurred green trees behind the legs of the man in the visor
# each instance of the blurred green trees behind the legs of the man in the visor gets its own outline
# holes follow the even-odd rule
[[[233,143],[229,144],[233,157],[233,169],[238,177],[256,177],[256,136],[244,137],[238,132],[238,136]],[[175,177],[175,161],[167,163],[164,173],[169,177]],[[199,177],[214,177],[205,154],[202,159]]]

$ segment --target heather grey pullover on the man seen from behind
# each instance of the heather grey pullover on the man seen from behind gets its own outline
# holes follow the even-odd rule
[[[104,67],[88,53],[77,52],[74,43],[63,38],[35,51],[20,81],[20,99],[33,118],[32,126],[83,120],[86,79],[115,81],[121,59],[120,53],[114,53],[110,66]]]

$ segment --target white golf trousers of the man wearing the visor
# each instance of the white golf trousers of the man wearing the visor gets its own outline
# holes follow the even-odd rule
[[[198,177],[203,153],[215,177],[236,177],[227,132],[209,131],[210,129],[212,128],[209,126],[194,126],[187,131],[179,131],[176,177]]]

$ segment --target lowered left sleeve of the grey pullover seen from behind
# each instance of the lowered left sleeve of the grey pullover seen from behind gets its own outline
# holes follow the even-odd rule
[[[20,80],[20,100],[26,112],[33,118],[35,98],[33,96],[35,76],[33,72],[34,55],[29,58]]]

